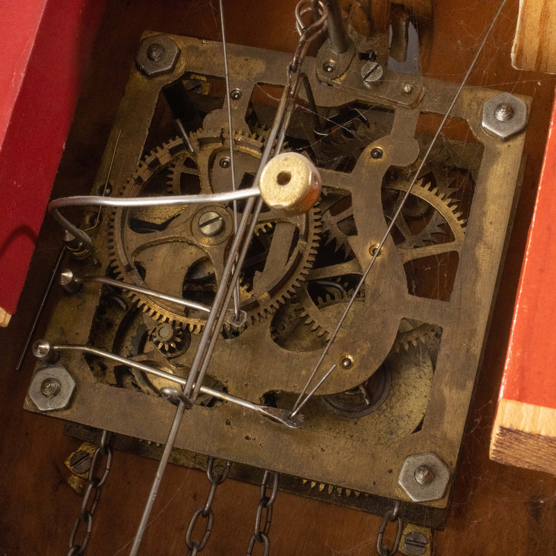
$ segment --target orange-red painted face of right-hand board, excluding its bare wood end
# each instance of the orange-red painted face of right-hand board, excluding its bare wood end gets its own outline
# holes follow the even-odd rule
[[[556,409],[556,103],[523,259],[500,398]]]

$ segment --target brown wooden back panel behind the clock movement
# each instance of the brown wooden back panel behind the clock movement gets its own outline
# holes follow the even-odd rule
[[[229,42],[292,51],[297,40],[294,4],[292,0],[228,1],[224,10]],[[434,44],[425,73],[449,81],[461,79],[496,8],[496,3],[481,0],[436,1]],[[443,556],[556,553],[555,478],[489,461],[489,436],[556,83],[552,76],[512,69],[510,50],[517,12],[517,1],[509,0],[471,75],[473,85],[530,95],[533,104],[525,147],[525,180],[461,449],[448,525],[435,536],[434,554]],[[180,6],[161,0],[108,1],[54,196],[88,193],[145,29],[218,40],[218,5],[208,0]],[[33,156],[29,154],[30,171]],[[59,250],[60,236],[47,218],[20,309],[10,325],[0,330],[0,554],[7,556],[67,553],[67,541],[81,505],[81,498],[65,482],[67,470],[63,465],[79,441],[63,435],[59,420],[21,409],[33,370],[32,357],[27,358],[22,373],[13,371],[19,346]],[[50,308],[53,303],[49,302]],[[43,318],[37,337],[45,323]],[[129,552],[155,471],[155,461],[115,453],[113,471],[95,514],[88,555]],[[186,554],[184,538],[190,517],[207,493],[208,481],[203,473],[170,466],[141,554]],[[224,482],[215,498],[215,524],[203,555],[245,554],[258,500],[256,486]],[[373,555],[380,521],[377,516],[280,493],[270,531],[271,553]],[[390,528],[387,534],[391,535]]]

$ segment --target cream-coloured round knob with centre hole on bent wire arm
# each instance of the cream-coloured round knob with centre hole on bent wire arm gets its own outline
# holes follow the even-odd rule
[[[261,174],[259,189],[270,208],[288,213],[309,211],[320,195],[320,174],[301,154],[284,152],[272,158]]]

